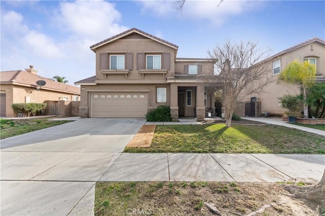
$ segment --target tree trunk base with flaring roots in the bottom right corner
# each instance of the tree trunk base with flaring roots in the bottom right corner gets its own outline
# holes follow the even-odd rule
[[[325,208],[325,169],[320,182],[313,187],[285,187],[290,193],[294,194],[295,198],[305,199],[320,208]]]

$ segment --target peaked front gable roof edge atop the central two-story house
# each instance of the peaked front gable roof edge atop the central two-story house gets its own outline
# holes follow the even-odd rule
[[[152,34],[149,34],[147,32],[139,30],[138,28],[131,28],[131,29],[128,29],[128,30],[126,30],[126,31],[124,31],[122,33],[116,34],[115,36],[113,36],[111,38],[108,38],[108,39],[106,39],[104,41],[101,41],[101,42],[99,42],[97,44],[94,44],[94,45],[90,46],[90,49],[95,52],[96,48],[104,46],[105,44],[108,44],[108,43],[113,42],[115,40],[121,39],[121,38],[125,37],[126,35],[129,35],[129,34],[132,34],[132,33],[138,33],[138,34],[140,34],[140,35],[142,35],[142,36],[144,36],[146,38],[149,38],[149,39],[151,39],[153,41],[156,41],[156,42],[159,42],[159,43],[164,44],[166,46],[169,46],[171,48],[174,48],[175,50],[178,49],[177,45],[172,44],[172,43],[170,43],[168,41],[165,41],[163,39],[160,39],[158,37],[155,37]]]

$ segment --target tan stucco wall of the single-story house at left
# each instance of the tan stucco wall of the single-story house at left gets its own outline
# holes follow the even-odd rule
[[[8,91],[10,89],[10,91]],[[69,101],[73,99],[74,94],[68,94],[64,92],[55,92],[49,90],[39,90],[36,88],[18,86],[12,84],[1,85],[1,91],[6,91],[6,115],[7,117],[15,117],[15,112],[11,105],[13,103],[25,103],[26,97],[30,98],[32,103],[43,103],[45,100],[63,100],[63,97],[67,97]],[[77,96],[77,95],[76,95]],[[78,100],[80,96],[78,95]]]

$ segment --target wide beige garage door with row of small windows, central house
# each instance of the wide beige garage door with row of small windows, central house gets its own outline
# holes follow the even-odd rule
[[[92,94],[92,117],[145,118],[147,94],[100,93]]]

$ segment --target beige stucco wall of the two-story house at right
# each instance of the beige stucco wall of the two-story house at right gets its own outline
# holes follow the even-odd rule
[[[268,61],[268,76],[270,79],[274,79],[274,81],[264,88],[263,93],[252,94],[244,98],[242,101],[249,101],[250,97],[258,97],[257,101],[261,102],[262,115],[266,112],[269,112],[271,115],[283,115],[286,110],[283,109],[278,103],[279,98],[286,94],[301,94],[301,85],[298,83],[288,83],[284,81],[279,82],[279,74],[273,75],[273,62],[280,60],[280,71],[282,71],[287,66],[287,64],[291,61],[294,61],[295,58],[300,58],[300,60],[303,61],[303,59],[306,57],[316,58],[316,74],[320,75],[325,68],[325,46],[314,42],[270,59]],[[243,109],[245,109],[244,106]],[[238,113],[244,114],[244,112]]]

